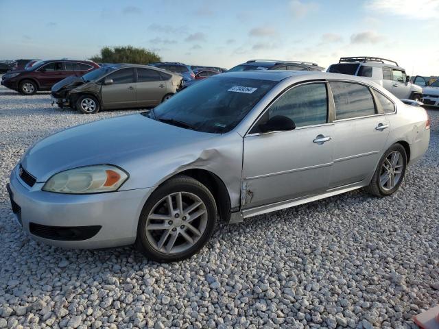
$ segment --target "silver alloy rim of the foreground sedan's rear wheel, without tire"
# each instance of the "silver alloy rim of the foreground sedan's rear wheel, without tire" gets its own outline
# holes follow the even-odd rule
[[[384,159],[379,173],[379,184],[384,191],[392,190],[401,180],[403,161],[403,156],[399,151],[392,151]]]

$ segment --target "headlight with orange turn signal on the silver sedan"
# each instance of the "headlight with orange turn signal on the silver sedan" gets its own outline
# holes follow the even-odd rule
[[[127,179],[125,171],[99,164],[56,173],[44,184],[43,191],[69,194],[112,192]]]

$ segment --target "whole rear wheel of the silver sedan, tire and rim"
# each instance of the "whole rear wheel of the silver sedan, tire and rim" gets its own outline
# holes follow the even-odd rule
[[[399,154],[399,156],[393,158],[394,154]],[[392,195],[403,182],[406,168],[407,153],[403,145],[396,143],[385,151],[379,160],[377,169],[366,189],[370,194],[377,197]],[[388,169],[390,169],[390,171]]]

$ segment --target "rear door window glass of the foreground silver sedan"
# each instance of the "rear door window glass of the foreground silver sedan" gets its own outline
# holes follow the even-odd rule
[[[375,114],[375,103],[368,87],[350,82],[330,82],[335,103],[335,119]]]

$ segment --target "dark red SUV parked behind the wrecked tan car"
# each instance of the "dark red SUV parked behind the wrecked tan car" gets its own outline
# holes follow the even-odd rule
[[[99,65],[89,60],[42,60],[28,69],[6,73],[1,84],[24,95],[34,95],[39,90],[50,90],[65,77],[80,77],[98,68]]]

